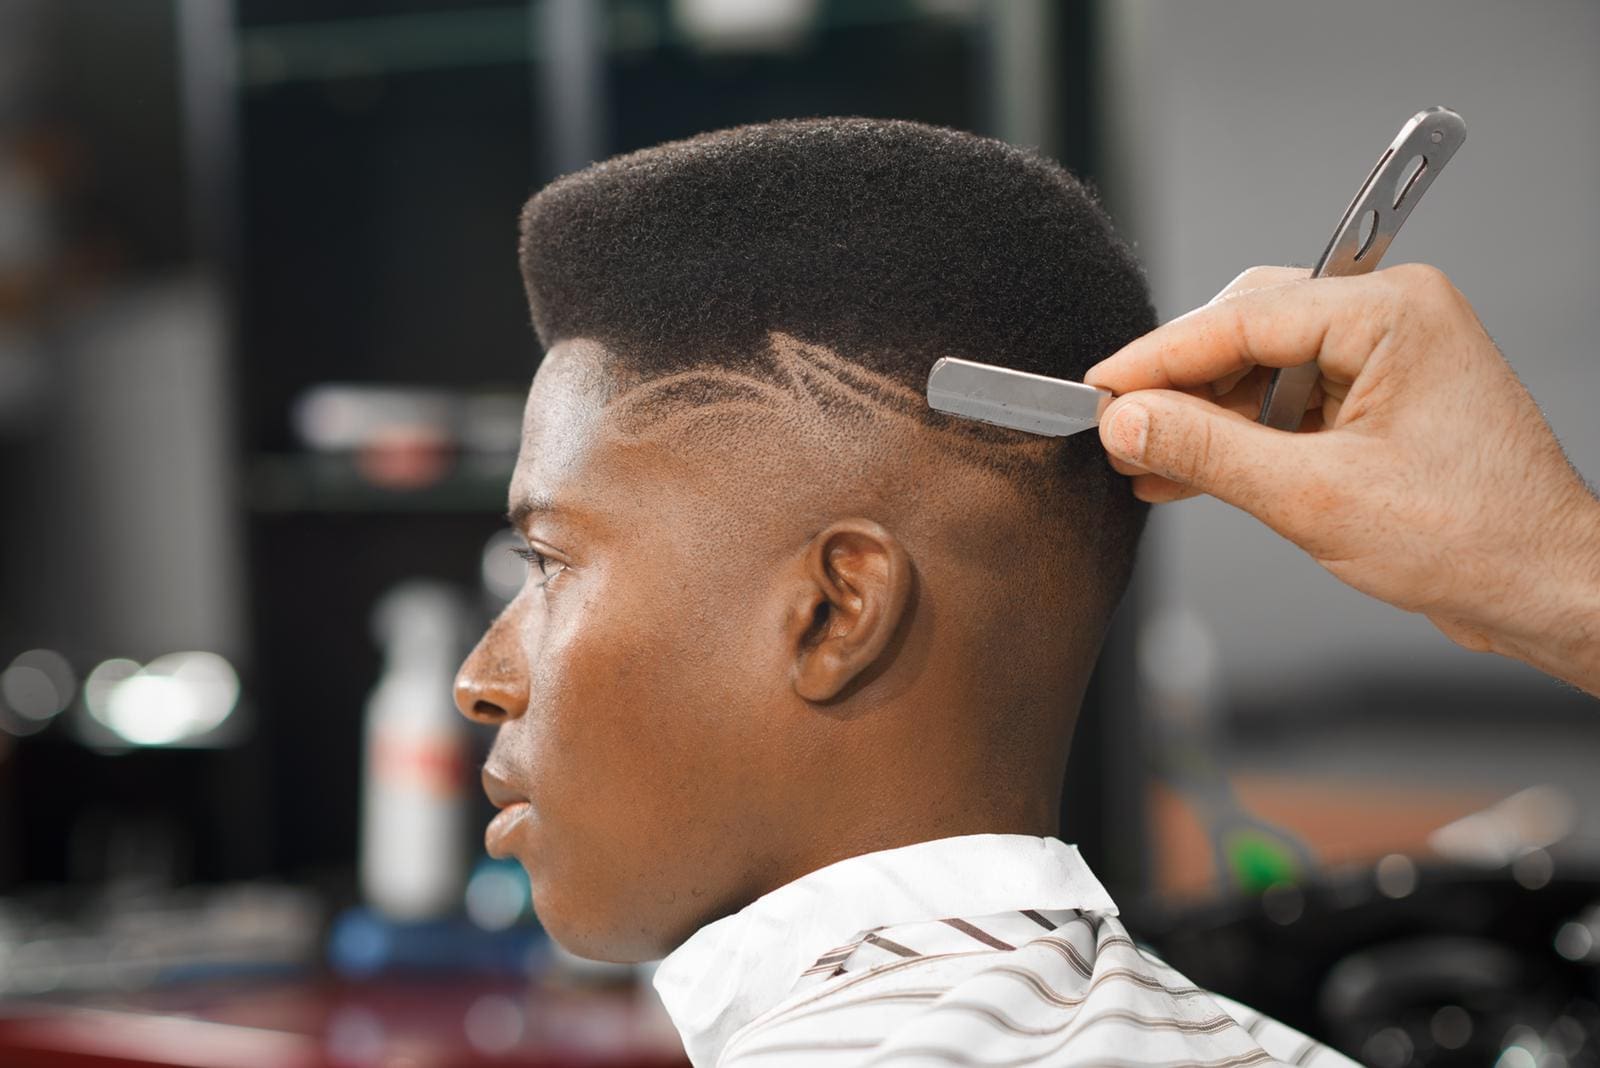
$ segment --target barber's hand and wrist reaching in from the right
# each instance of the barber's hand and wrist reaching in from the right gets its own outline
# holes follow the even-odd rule
[[[1272,369],[1312,360],[1301,432],[1254,422]],[[1456,643],[1600,694],[1600,502],[1438,270],[1256,267],[1085,381],[1118,393],[1101,441],[1141,499],[1219,497]]]

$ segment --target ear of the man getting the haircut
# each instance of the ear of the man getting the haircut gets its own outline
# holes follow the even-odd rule
[[[826,702],[872,667],[899,630],[910,556],[882,524],[838,520],[806,544],[802,576],[787,628],[794,687],[805,700]]]

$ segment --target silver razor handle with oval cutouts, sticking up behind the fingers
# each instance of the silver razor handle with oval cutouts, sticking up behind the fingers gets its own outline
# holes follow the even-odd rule
[[[1389,241],[1466,139],[1467,125],[1448,107],[1429,107],[1413,115],[1344,209],[1344,217],[1334,227],[1310,277],[1333,278],[1376,270],[1378,261],[1389,251]],[[1261,422],[1278,430],[1298,428],[1318,374],[1315,363],[1274,371],[1261,401]]]

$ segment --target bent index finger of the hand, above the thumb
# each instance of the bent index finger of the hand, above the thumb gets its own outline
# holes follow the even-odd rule
[[[1128,342],[1083,381],[1120,395],[1320,360],[1323,374],[1354,382],[1392,318],[1381,273],[1286,281],[1206,304]]]

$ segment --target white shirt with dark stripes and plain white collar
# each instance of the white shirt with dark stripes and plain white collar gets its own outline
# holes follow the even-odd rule
[[[702,927],[656,990],[696,1068],[1354,1063],[1141,950],[1053,838],[829,865]]]

